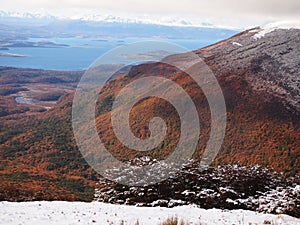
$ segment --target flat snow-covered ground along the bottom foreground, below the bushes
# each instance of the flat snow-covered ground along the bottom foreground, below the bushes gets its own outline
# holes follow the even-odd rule
[[[262,214],[245,210],[222,211],[196,206],[174,208],[135,207],[101,202],[1,202],[0,224],[133,224],[157,225],[177,216],[189,224],[288,224],[300,220],[287,215]]]

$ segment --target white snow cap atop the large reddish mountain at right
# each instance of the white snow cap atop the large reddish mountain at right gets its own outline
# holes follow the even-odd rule
[[[259,31],[254,35],[255,39],[264,37],[266,34],[271,33],[277,29],[300,29],[300,21],[280,21],[269,23],[260,27],[260,30],[253,30],[252,32]]]

